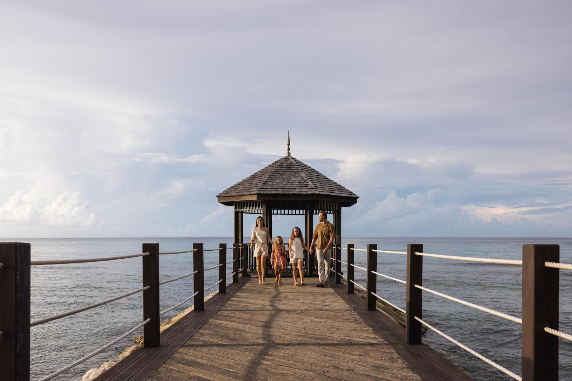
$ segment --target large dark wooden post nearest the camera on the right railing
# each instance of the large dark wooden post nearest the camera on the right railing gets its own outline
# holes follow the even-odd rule
[[[559,269],[545,262],[560,260],[559,245],[522,246],[522,380],[558,380]]]

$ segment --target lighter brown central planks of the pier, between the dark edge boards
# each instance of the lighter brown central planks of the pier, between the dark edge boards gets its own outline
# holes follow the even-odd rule
[[[269,280],[245,284],[149,380],[422,379],[334,288]]]

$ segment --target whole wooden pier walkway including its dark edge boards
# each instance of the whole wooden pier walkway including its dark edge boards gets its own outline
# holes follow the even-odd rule
[[[142,349],[98,381],[471,380],[426,345],[404,344],[399,324],[363,311],[364,300],[341,285],[269,280],[241,278],[194,313],[201,318],[165,332],[160,348]]]

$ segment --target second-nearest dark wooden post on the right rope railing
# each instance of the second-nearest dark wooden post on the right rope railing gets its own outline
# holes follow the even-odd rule
[[[423,252],[422,244],[407,244],[407,296],[406,296],[406,322],[405,341],[407,344],[421,344],[421,323],[415,316],[423,319],[422,291],[415,284],[423,285],[423,257],[415,253]]]

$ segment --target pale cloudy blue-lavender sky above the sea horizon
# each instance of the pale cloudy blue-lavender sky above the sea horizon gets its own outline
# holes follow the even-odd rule
[[[569,1],[2,0],[0,237],[231,236],[215,196],[288,131],[360,196],[343,235],[572,237],[571,18]]]

